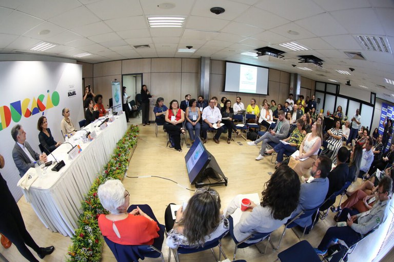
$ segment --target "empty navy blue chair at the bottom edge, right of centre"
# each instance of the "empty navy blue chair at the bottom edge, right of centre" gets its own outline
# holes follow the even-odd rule
[[[289,247],[278,254],[281,262],[320,262],[320,257],[308,241],[301,242]]]

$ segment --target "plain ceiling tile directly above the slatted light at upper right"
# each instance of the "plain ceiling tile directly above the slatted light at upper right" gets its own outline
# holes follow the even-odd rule
[[[372,8],[334,11],[331,12],[331,15],[351,34],[384,34],[379,19]],[[359,19],[355,19],[356,17]],[[394,20],[392,22],[394,23]]]

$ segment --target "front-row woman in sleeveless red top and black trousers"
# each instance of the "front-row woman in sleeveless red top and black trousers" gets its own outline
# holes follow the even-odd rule
[[[166,126],[167,133],[170,134],[174,142],[175,150],[182,152],[181,148],[181,133],[185,133],[183,122],[185,121],[185,113],[179,108],[177,100],[170,102],[170,108],[166,111]]]

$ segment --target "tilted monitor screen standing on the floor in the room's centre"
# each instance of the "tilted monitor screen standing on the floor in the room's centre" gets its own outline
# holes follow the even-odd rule
[[[202,180],[202,175],[210,160],[211,158],[202,140],[196,138],[185,156],[187,174],[191,185]]]

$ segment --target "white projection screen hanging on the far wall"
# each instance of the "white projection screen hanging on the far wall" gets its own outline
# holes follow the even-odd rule
[[[268,95],[268,68],[226,62],[224,91]]]

